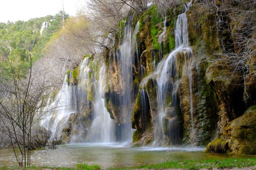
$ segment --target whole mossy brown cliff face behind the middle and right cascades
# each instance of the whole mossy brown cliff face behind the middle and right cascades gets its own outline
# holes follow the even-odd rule
[[[207,146],[210,142],[207,152],[255,154],[256,109],[250,107],[256,104],[254,69],[249,68],[244,76],[233,70],[222,54],[223,49],[238,51],[237,44],[230,45],[238,26],[231,22],[226,27],[229,32],[219,29],[215,14],[202,10],[196,2],[184,13],[189,50],[183,49],[167,60],[177,48],[176,28],[185,27],[185,20],[176,26],[184,8],[177,6],[161,16],[153,6],[124,18],[113,48],[103,52],[106,82],[101,98],[114,119],[116,138],[129,140],[124,137],[124,129],[127,132],[132,126],[136,129],[134,146]],[[166,61],[167,86],[161,94],[159,68]],[[100,62],[93,58],[90,63],[94,63],[90,68],[98,79]],[[91,103],[86,109],[93,110],[97,107],[96,86],[89,83],[86,87]],[[70,116],[65,128],[70,133],[67,142],[78,132],[89,136],[91,114]]]

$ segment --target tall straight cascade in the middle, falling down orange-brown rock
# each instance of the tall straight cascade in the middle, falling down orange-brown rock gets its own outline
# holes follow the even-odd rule
[[[131,141],[133,129],[130,122],[132,117],[132,102],[134,100],[133,91],[133,65],[138,66],[139,51],[137,46],[136,34],[139,31],[139,22],[132,33],[133,16],[129,17],[123,30],[123,40],[116,53],[117,65],[119,70],[119,103],[121,112],[125,115],[124,123],[118,130],[119,141]],[[135,62],[136,61],[136,62]],[[141,75],[142,76],[142,75]]]

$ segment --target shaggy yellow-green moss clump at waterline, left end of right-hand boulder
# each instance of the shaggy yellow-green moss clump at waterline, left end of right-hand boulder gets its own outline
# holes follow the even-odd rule
[[[227,153],[229,151],[228,141],[222,137],[215,138],[206,147],[208,153]]]

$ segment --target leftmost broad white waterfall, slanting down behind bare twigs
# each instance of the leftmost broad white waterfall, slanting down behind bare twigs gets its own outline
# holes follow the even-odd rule
[[[70,71],[65,75],[62,89],[58,91],[54,101],[51,101],[52,96],[48,98],[47,107],[43,108],[47,114],[42,118],[40,125],[51,132],[52,140],[61,139],[62,130],[70,114],[82,113],[84,108],[80,108],[80,106],[89,103],[86,94],[89,71],[89,57],[87,57],[80,64],[79,85],[73,82],[73,74]]]

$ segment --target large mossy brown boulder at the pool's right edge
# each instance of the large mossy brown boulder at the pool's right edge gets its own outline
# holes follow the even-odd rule
[[[225,126],[223,135],[214,139],[207,152],[256,154],[256,105]]]

